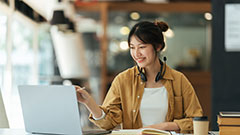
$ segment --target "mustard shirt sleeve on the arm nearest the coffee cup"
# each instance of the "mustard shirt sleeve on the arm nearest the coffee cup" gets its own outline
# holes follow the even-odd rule
[[[183,114],[182,118],[175,118],[174,122],[177,123],[181,131],[193,130],[192,118],[203,116],[203,110],[191,83],[183,74],[180,81],[182,94],[180,98],[182,99],[179,102],[182,104]]]

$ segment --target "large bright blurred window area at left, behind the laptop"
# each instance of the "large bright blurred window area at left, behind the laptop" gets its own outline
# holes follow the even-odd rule
[[[0,13],[0,87],[10,128],[24,128],[18,85],[49,84],[54,74],[49,25],[17,15],[8,20]]]

